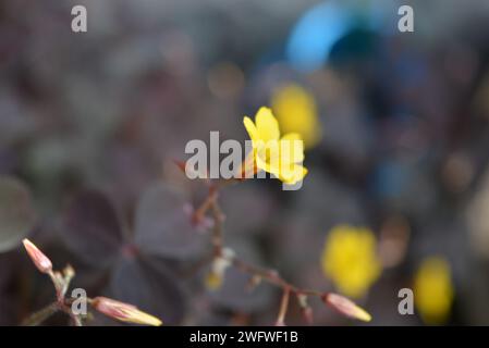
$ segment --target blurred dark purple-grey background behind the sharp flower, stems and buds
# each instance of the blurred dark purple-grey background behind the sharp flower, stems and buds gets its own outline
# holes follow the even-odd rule
[[[227,245],[374,325],[489,324],[488,1],[7,0],[0,76],[0,324],[54,298],[25,236],[73,287],[167,324],[272,324],[277,288],[233,269],[206,286],[209,236],[185,214],[206,188],[173,162],[210,130],[244,141],[261,105],[301,133],[309,174],[227,188]],[[305,324],[295,300],[286,323]]]

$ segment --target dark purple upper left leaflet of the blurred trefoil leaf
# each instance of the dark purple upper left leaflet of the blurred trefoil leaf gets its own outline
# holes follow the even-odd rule
[[[98,266],[113,262],[124,241],[112,203],[96,190],[84,191],[71,202],[61,234],[73,252]]]

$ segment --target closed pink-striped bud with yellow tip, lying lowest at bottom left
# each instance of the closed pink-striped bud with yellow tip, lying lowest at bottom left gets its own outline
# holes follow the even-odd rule
[[[163,324],[158,318],[138,310],[137,307],[133,304],[120,302],[107,297],[96,297],[91,304],[100,313],[122,322],[152,326],[160,326]]]

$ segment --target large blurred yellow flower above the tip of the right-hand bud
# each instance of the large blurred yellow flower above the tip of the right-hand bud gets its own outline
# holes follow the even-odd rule
[[[335,226],[326,240],[321,265],[341,293],[362,297],[381,272],[374,233],[368,228]]]

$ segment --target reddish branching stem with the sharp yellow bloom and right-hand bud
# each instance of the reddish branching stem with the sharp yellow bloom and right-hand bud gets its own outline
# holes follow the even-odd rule
[[[219,288],[224,281],[227,269],[234,266],[250,275],[248,284],[250,289],[261,282],[267,282],[281,289],[282,298],[276,320],[278,326],[285,325],[291,297],[296,298],[302,314],[309,324],[314,322],[313,308],[308,301],[309,297],[319,298],[326,304],[349,318],[365,322],[370,321],[371,316],[368,312],[344,296],[302,288],[288,282],[276,270],[261,269],[247,263],[224,245],[224,213],[219,203],[219,194],[224,187],[241,183],[260,171],[273,174],[288,185],[295,185],[307,175],[307,169],[301,164],[304,160],[304,148],[299,135],[290,133],[281,136],[279,123],[270,109],[261,108],[255,116],[255,122],[245,116],[243,123],[252,139],[253,150],[237,170],[239,178],[205,179],[204,183],[208,186],[208,196],[192,215],[193,223],[197,225],[204,224],[209,217],[212,221],[211,241],[213,250],[210,271],[206,279],[207,286],[211,289]],[[183,171],[188,171],[185,163],[179,162],[178,164]]]

